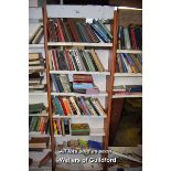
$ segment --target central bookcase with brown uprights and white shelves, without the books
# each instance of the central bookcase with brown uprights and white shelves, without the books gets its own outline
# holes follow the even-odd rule
[[[65,12],[61,11],[61,8],[63,10],[67,11],[67,15]],[[45,56],[46,56],[46,64],[50,61],[50,55],[49,55],[49,50],[53,49],[82,49],[82,50],[89,50],[89,49],[95,49],[96,53],[99,56],[99,60],[101,61],[105,71],[104,72],[85,72],[85,71],[52,71],[50,70],[50,66],[46,65],[46,81],[47,81],[47,97],[49,97],[49,113],[50,113],[50,122],[51,122],[51,139],[52,139],[52,150],[53,154],[55,152],[55,146],[56,143],[71,140],[71,139],[82,139],[83,140],[95,140],[99,141],[103,143],[104,148],[107,149],[107,141],[108,141],[108,125],[109,125],[109,118],[110,118],[110,103],[111,103],[111,97],[113,97],[113,75],[111,71],[114,67],[114,42],[111,43],[82,43],[82,42],[47,42],[47,18],[89,18],[89,13],[85,13],[83,11],[83,8],[90,9],[90,7],[84,7],[82,8],[79,6],[75,6],[75,8],[79,11],[81,13],[75,13],[74,12],[74,7],[71,9],[71,7],[66,6],[46,6],[43,8],[43,22],[44,22],[44,47],[45,47]],[[114,7],[95,7],[98,10],[98,14],[95,12],[94,9],[92,9],[92,19],[110,19],[114,22]],[[109,17],[104,15],[104,9],[109,9]],[[106,9],[106,10],[107,10]],[[58,10],[58,11],[57,11]],[[105,10],[105,11],[106,11]],[[61,12],[60,12],[61,11]],[[72,13],[70,15],[70,13]],[[93,14],[94,13],[94,14]],[[116,23],[114,23],[116,24]],[[111,24],[111,30],[114,33],[114,25]],[[95,82],[95,85],[98,86],[99,93],[98,94],[79,94],[79,93],[56,93],[51,90],[52,86],[52,81],[51,81],[51,74],[57,75],[57,74],[66,74],[70,77],[72,77],[74,74],[81,74],[81,75],[92,75]],[[99,99],[103,108],[105,108],[105,115],[104,116],[60,116],[60,115],[53,115],[53,109],[52,109],[52,96],[55,97],[96,97]],[[72,135],[55,135],[54,133],[54,128],[53,128],[53,120],[54,119],[70,119],[72,124],[84,124],[88,122],[89,128],[90,128],[90,133],[89,136],[72,136]],[[57,157],[56,157],[57,158]],[[55,156],[53,156],[53,170],[55,169]]]

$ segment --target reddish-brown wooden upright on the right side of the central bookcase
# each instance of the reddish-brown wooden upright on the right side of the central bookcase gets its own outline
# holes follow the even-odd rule
[[[115,10],[114,12],[114,24],[111,28],[113,31],[113,49],[109,58],[109,68],[110,68],[110,77],[107,82],[108,89],[108,103],[107,103],[107,124],[106,124],[106,139],[105,139],[105,149],[108,148],[109,141],[109,128],[110,128],[110,115],[111,115],[111,103],[113,103],[113,89],[114,89],[114,74],[116,68],[116,53],[117,53],[117,32],[118,32],[118,12]]]

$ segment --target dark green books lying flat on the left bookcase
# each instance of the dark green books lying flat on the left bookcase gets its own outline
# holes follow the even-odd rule
[[[43,103],[29,104],[29,115],[47,114],[47,108]]]

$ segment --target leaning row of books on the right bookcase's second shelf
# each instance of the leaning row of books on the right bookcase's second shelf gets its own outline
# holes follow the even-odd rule
[[[116,73],[142,73],[142,55],[117,54]]]

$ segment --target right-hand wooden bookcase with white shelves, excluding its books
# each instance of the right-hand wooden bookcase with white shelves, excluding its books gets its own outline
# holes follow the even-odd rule
[[[124,25],[128,26],[129,24],[142,24],[142,9],[131,9],[131,8],[117,8],[115,11],[115,19],[117,23],[116,32],[118,32],[118,26]],[[142,50],[118,50],[117,49],[118,40],[116,39],[114,42],[114,67],[113,67],[113,76],[114,76],[114,86],[118,85],[142,85],[142,73],[116,73],[116,56],[118,53],[129,53],[129,54],[142,54]],[[113,95],[113,103],[116,103],[118,108],[120,108],[124,104],[125,98],[141,98],[142,94],[138,95]],[[115,101],[117,99],[117,101]],[[121,107],[122,108],[122,107]],[[115,138],[118,125],[120,122],[121,109],[120,111],[113,111],[111,114],[111,124],[113,124],[113,138]],[[139,147],[131,147],[133,149],[138,149]],[[108,147],[115,151],[115,149],[130,150],[130,147]],[[130,150],[131,151],[131,150]],[[131,159],[131,161],[133,161]],[[140,162],[138,162],[141,165]],[[110,170],[114,165],[110,165]],[[124,165],[122,165],[124,167]]]

